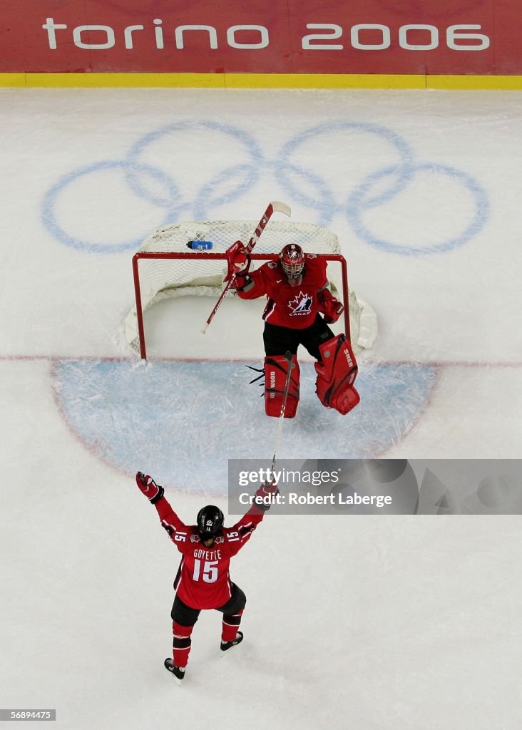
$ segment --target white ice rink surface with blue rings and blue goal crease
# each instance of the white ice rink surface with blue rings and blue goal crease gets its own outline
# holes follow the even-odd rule
[[[302,355],[280,458],[518,458],[521,142],[518,92],[0,90],[1,707],[64,730],[520,727],[518,517],[269,512],[231,564],[245,642],[222,658],[202,614],[177,688],[178,556],[134,473],[191,523],[226,510],[228,458],[269,466],[263,304],[226,301],[204,337],[212,301],[158,304],[147,363],[123,320],[154,228],[284,201],[339,236],[379,334],[344,418]]]

